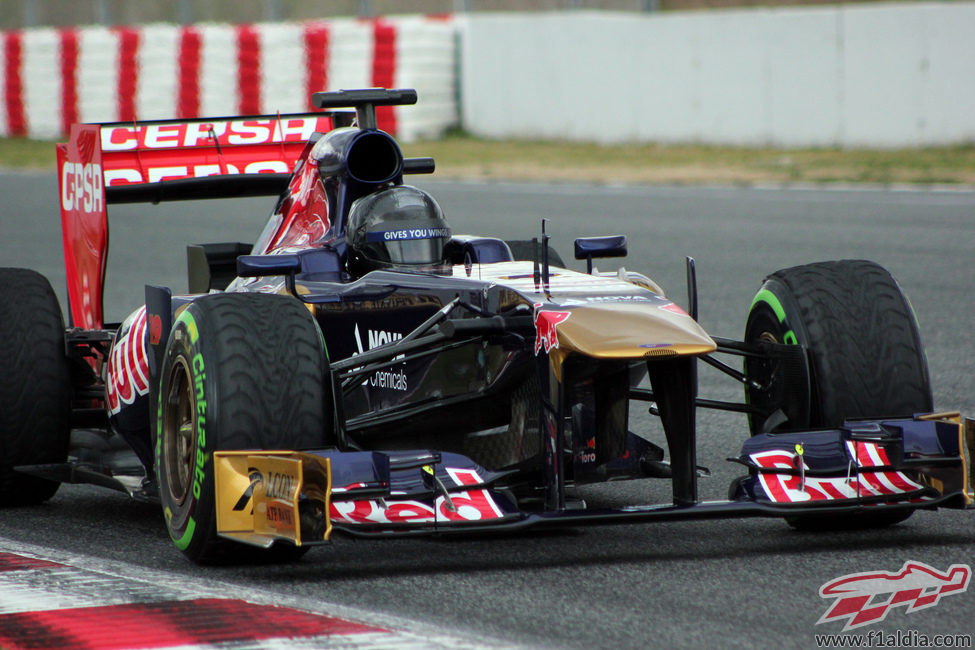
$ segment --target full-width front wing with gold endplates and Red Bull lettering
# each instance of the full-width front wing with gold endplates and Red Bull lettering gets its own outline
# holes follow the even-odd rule
[[[214,453],[217,532],[258,546],[357,535],[510,530],[640,520],[791,517],[975,506],[975,420],[958,414],[763,434],[731,459],[749,470],[727,501],[529,511],[510,474],[429,451]]]

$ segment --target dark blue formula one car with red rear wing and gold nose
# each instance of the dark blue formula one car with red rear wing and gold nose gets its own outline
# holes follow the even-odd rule
[[[333,530],[876,526],[972,507],[975,422],[930,413],[914,315],[883,268],[778,271],[743,341],[710,336],[692,260],[685,311],[646,276],[593,271],[622,236],[577,239],[583,273],[544,226],[453,234],[403,181],[433,161],[377,128],[377,107],[415,101],[366,89],[315,94],[326,112],[76,125],[58,148],[70,327],[43,277],[0,270],[0,504],[123,490],[160,502],[198,562],[293,558]],[[189,294],[147,286],[102,322],[107,204],[255,195],[279,198],[253,246],[190,246]],[[744,401],[698,397],[698,363]],[[666,450],[630,430],[630,400]],[[725,501],[698,498],[699,407],[748,416]],[[590,509],[571,489],[646,477],[672,501]]]

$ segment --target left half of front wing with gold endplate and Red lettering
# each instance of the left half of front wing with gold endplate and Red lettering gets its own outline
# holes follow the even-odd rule
[[[217,533],[269,547],[348,532],[433,532],[521,518],[490,472],[459,454],[427,451],[214,452]]]

